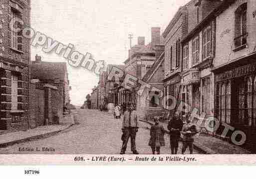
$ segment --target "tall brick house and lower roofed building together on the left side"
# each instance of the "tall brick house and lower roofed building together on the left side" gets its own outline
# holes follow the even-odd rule
[[[30,40],[9,28],[30,26],[30,0],[0,0],[0,133],[52,124],[69,103],[65,63],[30,61]]]

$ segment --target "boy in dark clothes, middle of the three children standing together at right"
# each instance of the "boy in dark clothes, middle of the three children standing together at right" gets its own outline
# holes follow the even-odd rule
[[[183,122],[180,120],[179,112],[177,111],[173,118],[168,123],[168,130],[170,131],[170,144],[171,153],[177,154],[179,148],[179,139],[181,136],[181,130],[183,127]]]

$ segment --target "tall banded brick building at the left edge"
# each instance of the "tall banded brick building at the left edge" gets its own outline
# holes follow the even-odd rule
[[[14,28],[30,26],[30,0],[0,0],[0,130],[12,132],[29,126],[29,63],[30,43],[21,31],[8,27],[13,18],[20,18]]]

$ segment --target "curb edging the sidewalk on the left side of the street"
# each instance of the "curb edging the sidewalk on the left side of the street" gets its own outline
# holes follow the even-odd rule
[[[26,142],[26,141],[31,141],[31,140],[34,140],[34,139],[39,139],[39,138],[43,139],[43,138],[47,138],[47,137],[50,137],[50,136],[54,136],[57,133],[60,133],[62,131],[67,130],[68,128],[70,128],[73,125],[74,124],[71,124],[71,125],[67,126],[66,128],[64,128],[62,130],[53,131],[53,132],[49,132],[49,133],[45,133],[45,134],[40,134],[40,135],[36,135],[36,136],[31,136],[31,137],[24,138],[24,139],[19,139],[19,140],[16,140],[16,141],[10,141],[10,142],[6,142],[6,143],[2,143],[2,144],[0,144],[0,149],[1,148],[6,148],[8,146],[12,146],[14,144],[19,144],[19,143],[23,143],[23,142]]]

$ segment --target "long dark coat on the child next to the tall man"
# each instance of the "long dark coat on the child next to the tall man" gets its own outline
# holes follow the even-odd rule
[[[164,133],[165,130],[162,125],[153,125],[150,129],[150,140],[148,145],[151,147],[165,146]]]

